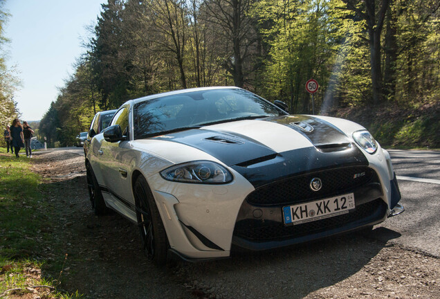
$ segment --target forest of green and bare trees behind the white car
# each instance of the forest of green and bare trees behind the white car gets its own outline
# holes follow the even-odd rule
[[[358,121],[385,145],[440,147],[438,0],[109,0],[90,34],[39,125],[49,146],[133,98],[233,85]]]

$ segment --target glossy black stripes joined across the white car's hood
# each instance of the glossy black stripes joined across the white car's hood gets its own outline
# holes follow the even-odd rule
[[[312,116],[277,116],[259,121],[285,125],[307,138],[314,146],[275,152],[253,138],[213,129],[189,129],[155,139],[181,143],[200,149],[234,168],[255,186],[270,179],[338,165],[368,165],[363,152],[351,144],[343,132],[333,125]],[[306,123],[309,132],[295,123]],[[274,132],[276,134],[276,132]],[[283,142],[285,136],[279,136]],[[258,165],[255,167],[254,165]]]

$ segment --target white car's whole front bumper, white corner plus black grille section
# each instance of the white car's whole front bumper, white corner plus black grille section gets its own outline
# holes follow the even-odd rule
[[[313,192],[304,182],[318,175],[327,188]],[[238,174],[235,178],[228,186],[198,185],[195,190],[191,184],[166,183],[161,192],[154,191],[174,253],[185,260],[217,259],[242,248],[260,251],[329,237],[381,223],[389,216],[388,199],[400,199],[397,181],[383,185],[367,165],[307,172],[257,189]],[[390,189],[388,198],[385,190]],[[354,193],[356,203],[349,213],[284,225],[284,206],[347,193]]]

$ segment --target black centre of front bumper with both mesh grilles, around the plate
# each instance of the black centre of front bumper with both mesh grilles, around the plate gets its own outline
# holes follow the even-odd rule
[[[350,184],[344,183],[354,174],[364,172],[365,175],[360,181]],[[292,192],[288,187],[295,188],[298,185],[306,185],[298,182],[309,181],[317,175],[322,178],[323,185],[327,183],[329,186],[327,190],[317,195],[318,192],[311,192],[304,188],[304,190],[297,190],[300,196],[293,196],[292,201],[283,201],[283,199],[289,198],[288,193]],[[288,189],[285,191],[286,194],[283,194],[285,188]],[[282,213],[284,206],[351,192],[354,193],[356,209],[347,214],[304,224],[284,224]],[[288,181],[272,183],[249,194],[241,205],[232,244],[235,249],[245,248],[259,251],[308,242],[381,223],[387,218],[387,210],[388,206],[383,199],[382,185],[376,172],[371,168],[345,167],[306,174]]]

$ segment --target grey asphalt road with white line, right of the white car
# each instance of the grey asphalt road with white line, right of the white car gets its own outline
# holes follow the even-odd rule
[[[440,257],[440,152],[388,152],[405,212],[376,226],[374,235]]]

